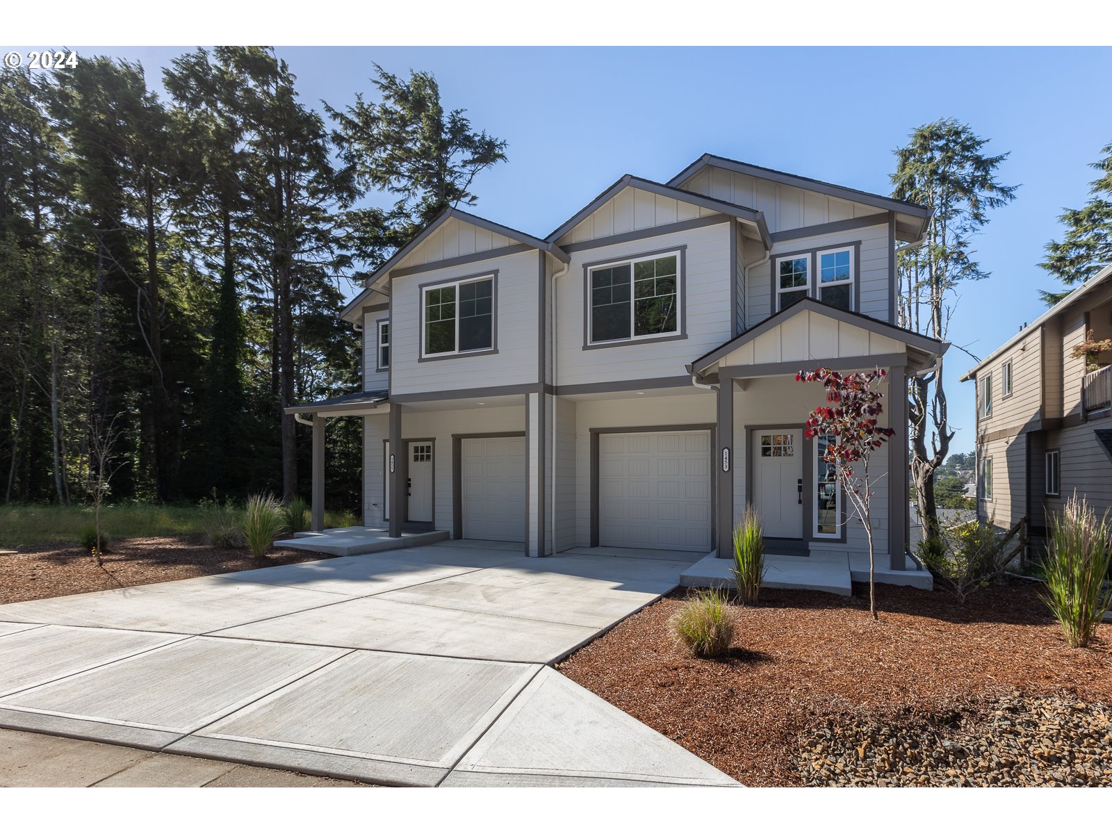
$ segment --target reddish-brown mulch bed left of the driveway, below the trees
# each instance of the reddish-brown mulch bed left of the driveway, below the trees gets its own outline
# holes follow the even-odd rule
[[[328,557],[276,548],[257,559],[246,549],[212,547],[202,535],[113,543],[111,553],[105,554],[103,568],[79,547],[0,552],[0,604],[322,558]]]

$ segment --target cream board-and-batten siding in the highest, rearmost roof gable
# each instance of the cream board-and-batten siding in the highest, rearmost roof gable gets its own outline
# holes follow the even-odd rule
[[[768,230],[773,232],[868,217],[878,211],[875,206],[771,182],[716,166],[701,169],[679,188],[763,211]],[[884,215],[884,222],[887,222],[887,215]]]

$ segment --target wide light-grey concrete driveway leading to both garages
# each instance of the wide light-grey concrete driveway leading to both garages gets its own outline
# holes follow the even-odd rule
[[[736,785],[548,665],[691,562],[446,542],[4,605],[0,726],[379,784]]]

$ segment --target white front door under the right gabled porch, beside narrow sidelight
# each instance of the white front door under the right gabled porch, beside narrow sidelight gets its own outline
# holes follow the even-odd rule
[[[753,504],[764,535],[803,538],[803,430],[753,433]]]

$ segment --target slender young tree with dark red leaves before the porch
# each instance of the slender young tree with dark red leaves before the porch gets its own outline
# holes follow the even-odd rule
[[[883,368],[844,376],[830,368],[817,368],[795,375],[796,381],[822,383],[826,388],[826,401],[833,404],[818,406],[811,413],[805,435],[808,438],[830,438],[823,460],[834,467],[842,494],[850,502],[853,515],[865,527],[868,537],[868,610],[873,619],[877,616],[872,499],[876,481],[884,476],[871,475],[868,463],[873,451],[895,434],[895,429],[877,425],[876,419],[884,410],[881,406],[884,395],[875,390],[873,384],[885,376],[887,371]],[[901,471],[900,461],[896,463],[893,470]]]

